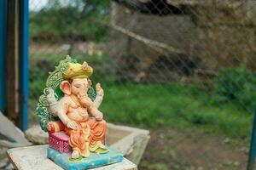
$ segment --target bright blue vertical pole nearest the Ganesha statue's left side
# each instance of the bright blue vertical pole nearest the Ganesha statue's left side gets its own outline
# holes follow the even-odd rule
[[[28,123],[28,0],[20,1],[20,128]]]

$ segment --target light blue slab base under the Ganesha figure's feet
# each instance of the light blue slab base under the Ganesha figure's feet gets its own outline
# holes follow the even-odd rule
[[[69,161],[71,154],[63,154],[49,147],[47,150],[47,157],[60,167],[68,170],[102,167],[108,164],[123,161],[122,154],[110,147],[108,147],[108,150],[109,152],[106,154],[90,153],[89,157],[83,158],[81,161]]]

